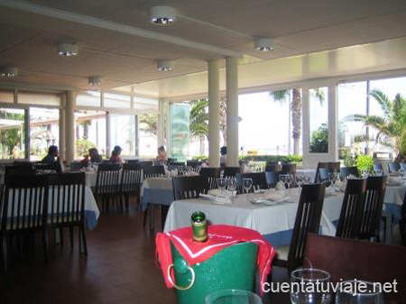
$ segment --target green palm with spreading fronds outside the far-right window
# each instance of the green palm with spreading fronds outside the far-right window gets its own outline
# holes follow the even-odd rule
[[[358,135],[356,142],[367,142],[374,140],[391,147],[396,154],[406,152],[406,99],[397,94],[391,100],[383,91],[374,89],[370,95],[381,106],[383,115],[351,115],[346,121],[362,122],[377,131],[375,138],[367,138],[366,135]]]

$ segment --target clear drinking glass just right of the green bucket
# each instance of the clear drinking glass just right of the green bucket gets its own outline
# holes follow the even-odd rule
[[[291,272],[292,304],[329,304],[330,274],[318,269],[298,269]]]

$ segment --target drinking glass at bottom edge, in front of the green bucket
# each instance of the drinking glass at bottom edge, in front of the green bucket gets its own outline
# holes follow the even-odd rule
[[[218,290],[209,293],[205,304],[262,304],[263,301],[253,292],[246,290]]]

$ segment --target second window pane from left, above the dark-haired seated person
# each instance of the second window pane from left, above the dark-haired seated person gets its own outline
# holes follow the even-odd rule
[[[60,143],[60,110],[30,107],[30,160],[41,161],[50,145]]]

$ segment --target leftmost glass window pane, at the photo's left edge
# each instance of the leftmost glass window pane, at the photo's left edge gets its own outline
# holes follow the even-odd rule
[[[0,108],[0,159],[24,158],[24,110]]]

